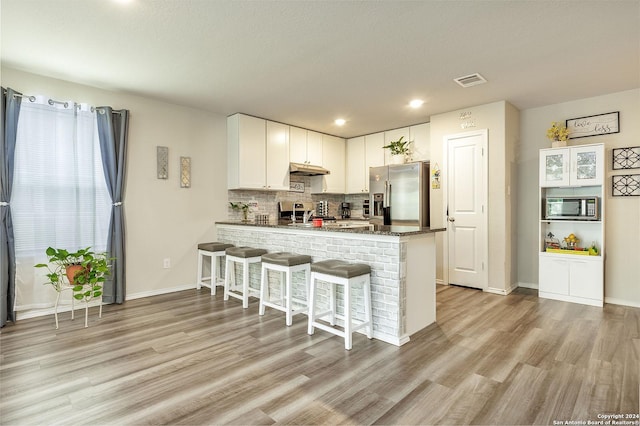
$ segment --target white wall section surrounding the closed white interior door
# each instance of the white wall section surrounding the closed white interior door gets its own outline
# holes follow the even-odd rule
[[[461,119],[461,113],[471,113]],[[473,121],[474,127],[462,128],[462,125]],[[515,244],[512,238],[515,230],[515,213],[512,212],[512,185],[515,183],[515,163],[518,147],[518,111],[508,102],[500,101],[487,105],[469,107],[431,117],[431,167],[437,163],[442,176],[444,169],[443,140],[446,135],[464,133],[466,131],[489,129],[489,283],[488,290],[497,293],[508,293],[515,285],[515,262],[512,261]],[[446,228],[446,188],[431,189],[431,227]],[[436,237],[437,279],[442,280],[443,239],[446,232]]]

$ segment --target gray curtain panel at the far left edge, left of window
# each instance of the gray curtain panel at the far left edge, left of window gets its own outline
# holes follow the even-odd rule
[[[11,221],[11,186],[16,151],[18,117],[20,116],[21,93],[2,88],[2,110],[0,111],[0,327],[7,321],[15,322],[13,302],[16,289],[16,250]]]

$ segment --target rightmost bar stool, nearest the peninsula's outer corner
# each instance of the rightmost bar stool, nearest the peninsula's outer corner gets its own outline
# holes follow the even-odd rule
[[[316,313],[316,297],[318,281],[329,283],[329,310]],[[344,315],[336,312],[336,285],[344,289]],[[351,313],[352,298],[351,287],[359,286],[364,293],[364,320],[353,318]],[[318,322],[328,316],[330,325]],[[344,320],[344,331],[335,326],[337,319]],[[324,319],[325,321],[327,319]],[[309,291],[309,325],[307,332],[313,334],[314,327],[344,337],[344,347],[351,349],[352,334],[354,331],[365,328],[367,337],[372,338],[372,314],[371,314],[371,267],[362,263],[349,263],[342,260],[325,260],[311,265],[311,285]]]

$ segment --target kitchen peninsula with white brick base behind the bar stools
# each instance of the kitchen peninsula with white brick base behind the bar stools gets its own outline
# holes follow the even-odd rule
[[[236,246],[306,254],[313,262],[342,259],[370,265],[375,339],[400,346],[411,334],[435,322],[435,232],[444,229],[382,225],[314,228],[242,222],[217,222],[216,229],[218,241]],[[250,285],[257,288],[259,269],[251,275]]]

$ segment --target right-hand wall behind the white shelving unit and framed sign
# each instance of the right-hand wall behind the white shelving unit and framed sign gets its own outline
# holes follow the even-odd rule
[[[640,89],[521,111],[518,161],[518,280],[538,283],[538,150],[548,148],[546,129],[564,121],[620,111],[620,133],[569,140],[569,145],[605,144],[605,302],[640,306],[640,197],[612,197],[611,176],[640,174],[640,169],[612,171],[612,149],[640,145]]]

